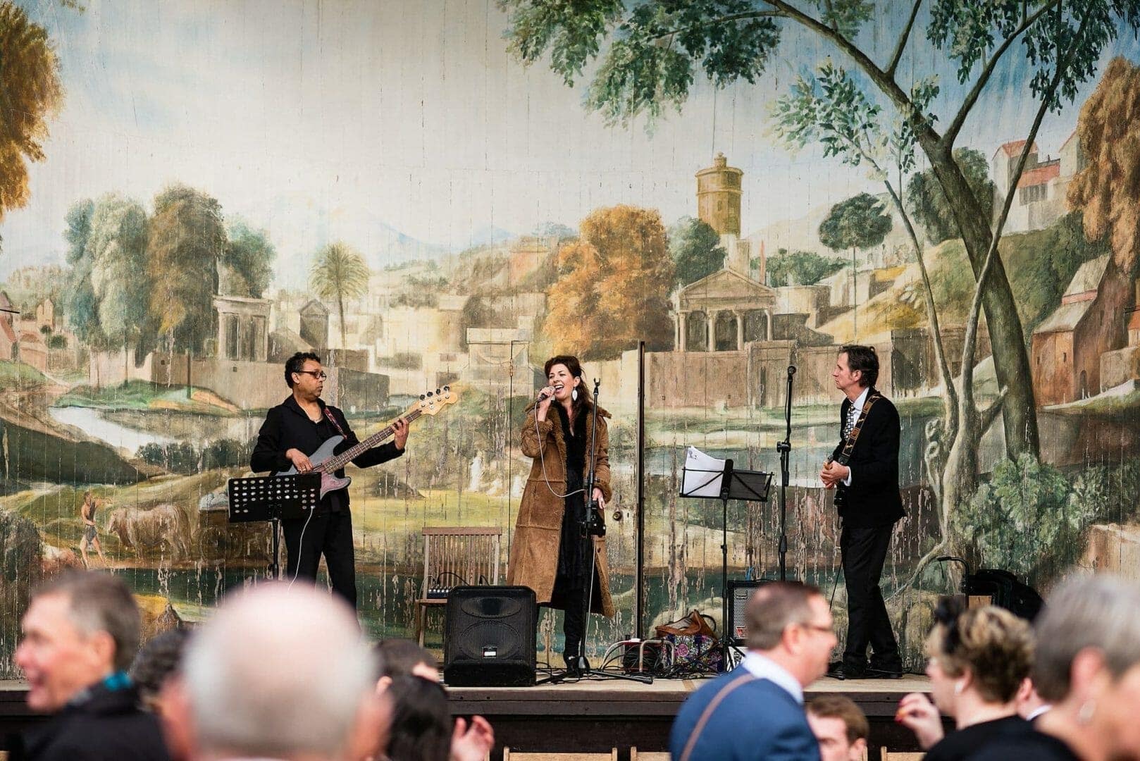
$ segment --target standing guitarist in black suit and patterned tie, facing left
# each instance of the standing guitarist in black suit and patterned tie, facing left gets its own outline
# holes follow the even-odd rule
[[[841,347],[831,377],[846,398],[839,411],[839,445],[820,478],[826,488],[838,489],[847,646],[844,659],[831,664],[828,674],[837,679],[897,678],[903,664],[879,577],[895,521],[905,515],[898,493],[898,411],[874,389],[879,357],[873,348]]]

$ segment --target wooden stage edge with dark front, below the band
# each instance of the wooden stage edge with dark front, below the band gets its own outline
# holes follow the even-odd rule
[[[524,752],[608,752],[628,761],[629,751],[667,751],[669,729],[681,704],[707,679],[657,679],[652,685],[624,680],[581,680],[537,687],[450,687],[451,713],[482,715],[495,728],[502,758],[507,746]],[[898,701],[907,693],[928,693],[930,680],[821,679],[805,690],[807,699],[838,694],[852,698],[871,724],[869,761],[878,761],[881,747],[919,750],[913,734],[895,723]],[[0,681],[0,738],[7,738],[41,721],[25,704],[25,682]],[[7,743],[2,743],[5,747]]]

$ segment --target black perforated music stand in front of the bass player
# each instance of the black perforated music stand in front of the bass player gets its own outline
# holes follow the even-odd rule
[[[228,517],[231,524],[268,520],[272,525],[272,556],[269,572],[280,578],[280,521],[283,518],[304,518],[320,504],[320,473],[294,476],[255,476],[230,478],[226,486],[229,494]]]

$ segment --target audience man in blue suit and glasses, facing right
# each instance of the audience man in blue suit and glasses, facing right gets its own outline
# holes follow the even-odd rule
[[[744,615],[748,655],[681,706],[673,761],[819,761],[804,688],[828,670],[838,641],[828,601],[815,586],[773,582]]]

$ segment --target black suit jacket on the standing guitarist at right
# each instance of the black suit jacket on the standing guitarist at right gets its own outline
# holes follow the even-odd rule
[[[871,392],[874,394],[874,389]],[[844,399],[839,407],[839,445],[832,452],[833,458],[844,450],[844,421],[850,406],[852,403]],[[866,414],[847,463],[852,469],[852,485],[844,487],[844,505],[839,510],[845,526],[889,526],[906,515],[898,493],[898,411],[890,399],[882,397]]]

